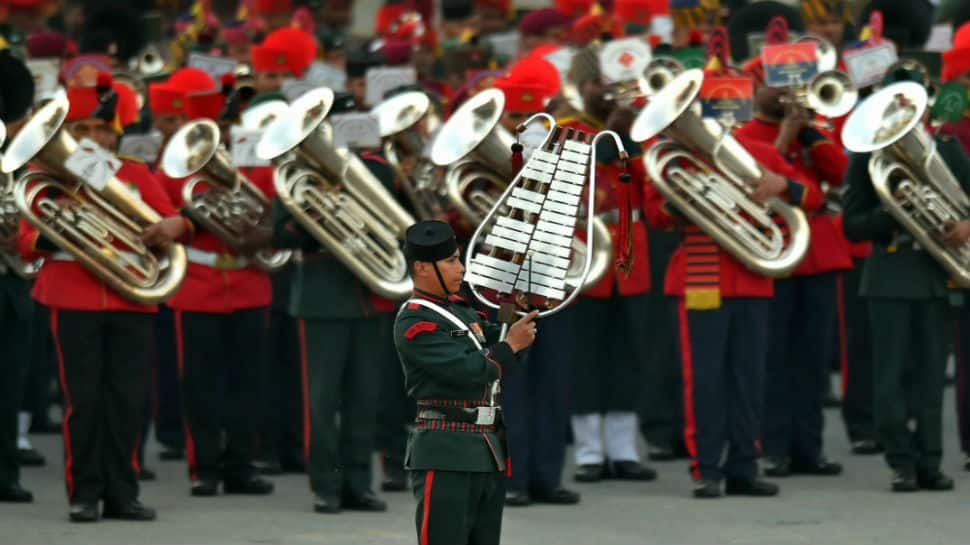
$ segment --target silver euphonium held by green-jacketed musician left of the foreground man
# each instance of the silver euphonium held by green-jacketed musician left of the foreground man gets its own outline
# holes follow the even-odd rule
[[[324,87],[303,94],[266,128],[256,154],[276,163],[277,198],[317,242],[374,293],[403,299],[413,285],[399,241],[414,218],[355,153],[334,144],[333,99]]]

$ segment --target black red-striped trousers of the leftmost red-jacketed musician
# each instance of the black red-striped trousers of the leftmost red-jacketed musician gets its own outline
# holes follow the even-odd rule
[[[138,497],[153,320],[147,312],[51,309],[71,503]]]

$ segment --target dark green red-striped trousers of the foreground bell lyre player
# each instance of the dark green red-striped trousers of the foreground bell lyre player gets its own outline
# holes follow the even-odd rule
[[[498,545],[505,473],[411,472],[418,545]]]

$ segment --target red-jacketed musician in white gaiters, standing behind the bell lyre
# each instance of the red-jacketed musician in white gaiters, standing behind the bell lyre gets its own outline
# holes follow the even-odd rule
[[[613,128],[624,138],[630,160],[631,181],[620,187],[623,168],[612,142],[597,151],[595,210],[609,226],[613,239],[611,264],[627,249],[620,244],[621,195],[628,191],[632,210],[632,268],[620,273],[611,266],[595,286],[583,292],[576,313],[586,327],[573,361],[570,404],[575,439],[577,481],[593,482],[604,476],[604,465],[619,479],[653,480],[656,472],[640,463],[636,449],[639,430],[636,407],[640,379],[648,357],[643,330],[646,324],[646,293],[650,290],[647,231],[641,214],[646,174],[639,158],[641,148],[628,137],[633,115],[607,100],[607,88],[592,49],[576,55],[571,67],[582,104],[572,104],[575,116],[563,117],[563,127],[596,134]],[[603,437],[606,437],[605,441]]]

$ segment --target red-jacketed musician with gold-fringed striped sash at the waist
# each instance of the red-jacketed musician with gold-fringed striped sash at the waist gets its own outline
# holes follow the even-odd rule
[[[818,206],[821,191],[770,146],[742,144],[765,168],[755,199],[781,197]],[[694,496],[774,496],[778,487],[757,474],[761,385],[768,347],[771,278],[748,270],[656,190],[647,186],[647,221],[679,228],[683,240],[671,257],[664,291],[679,298],[684,376],[684,432],[695,479]],[[721,463],[724,443],[727,458]]]

